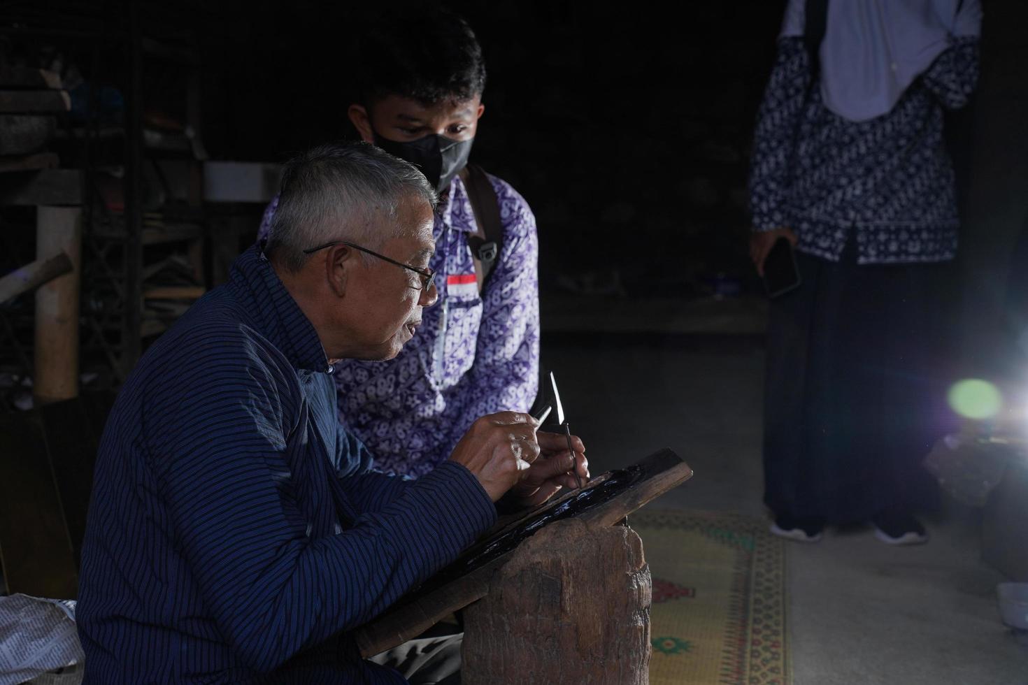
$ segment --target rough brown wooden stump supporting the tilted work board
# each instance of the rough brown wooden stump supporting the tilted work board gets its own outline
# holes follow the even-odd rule
[[[465,612],[462,682],[648,684],[651,589],[630,528],[551,524]]]

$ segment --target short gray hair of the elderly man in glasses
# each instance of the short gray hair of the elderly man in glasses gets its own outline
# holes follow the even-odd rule
[[[304,250],[332,240],[375,250],[403,233],[397,210],[411,195],[433,208],[438,201],[417,167],[369,143],[311,148],[286,163],[266,252],[296,272],[309,259]],[[375,221],[382,214],[393,220],[391,231],[382,232]]]

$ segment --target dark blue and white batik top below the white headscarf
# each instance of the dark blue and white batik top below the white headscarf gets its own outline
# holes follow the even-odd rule
[[[802,38],[782,38],[754,141],[754,228],[793,228],[800,251],[831,261],[851,231],[861,264],[953,259],[958,219],[943,110],[966,104],[978,72],[978,39],[955,38],[889,113],[854,122],[810,87]]]

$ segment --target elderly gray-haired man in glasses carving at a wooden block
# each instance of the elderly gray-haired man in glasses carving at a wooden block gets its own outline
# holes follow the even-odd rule
[[[436,301],[435,201],[371,145],[301,155],[266,250],[244,253],[144,354],[96,468],[85,683],[454,678],[453,640],[376,663],[352,632],[487,530],[501,497],[544,501],[587,467],[581,441],[571,454],[507,412],[409,481],[374,470],[340,426],[333,361],[395,356]]]

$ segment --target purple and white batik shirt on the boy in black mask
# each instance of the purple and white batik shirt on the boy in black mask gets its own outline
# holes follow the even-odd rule
[[[526,412],[539,385],[539,242],[528,203],[495,177],[504,243],[479,296],[468,234],[476,230],[464,182],[436,210],[439,302],[395,359],[335,365],[339,419],[375,457],[375,467],[421,475],[449,457],[480,416]],[[267,237],[278,198],[264,213]]]

